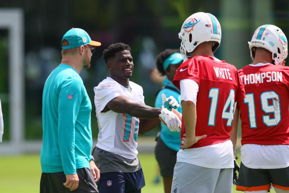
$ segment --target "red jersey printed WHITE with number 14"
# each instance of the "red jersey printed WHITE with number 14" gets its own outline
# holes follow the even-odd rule
[[[243,101],[244,86],[235,66],[216,61],[210,56],[195,56],[184,62],[176,72],[173,84],[191,79],[198,83],[196,136],[206,134],[190,148],[203,147],[230,140],[235,101]],[[185,85],[190,86],[190,85]],[[182,119],[181,138],[185,133]]]

